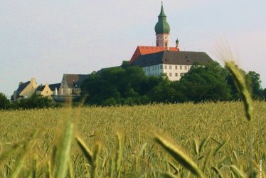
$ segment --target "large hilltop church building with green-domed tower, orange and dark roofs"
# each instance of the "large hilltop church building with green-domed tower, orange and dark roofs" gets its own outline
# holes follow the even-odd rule
[[[180,51],[179,40],[176,46],[170,47],[170,26],[161,4],[161,12],[155,25],[156,46],[137,46],[130,60],[131,66],[140,66],[146,75],[162,75],[165,73],[169,80],[180,80],[193,66],[193,63],[206,65],[213,61],[207,53]]]

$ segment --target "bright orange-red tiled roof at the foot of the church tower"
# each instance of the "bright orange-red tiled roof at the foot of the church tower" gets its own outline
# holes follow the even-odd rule
[[[160,46],[137,46],[136,51],[134,52],[130,63],[133,63],[139,55],[158,53],[161,51],[166,51],[166,47]],[[179,51],[179,48],[169,47],[169,51]]]

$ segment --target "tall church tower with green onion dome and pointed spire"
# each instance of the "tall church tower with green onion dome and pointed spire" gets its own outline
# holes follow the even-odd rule
[[[161,13],[158,16],[158,22],[155,25],[156,46],[169,48],[170,45],[170,26],[166,21],[167,16],[164,14],[164,5],[161,1]]]

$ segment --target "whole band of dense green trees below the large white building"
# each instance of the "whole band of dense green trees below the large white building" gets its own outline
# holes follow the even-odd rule
[[[243,73],[245,73],[243,71]],[[249,72],[254,99],[263,100],[260,75]],[[92,73],[82,85],[85,103],[90,105],[135,105],[147,103],[183,103],[206,100],[239,100],[238,89],[228,70],[219,63],[206,66],[193,65],[181,80],[170,81],[166,75],[147,76],[142,68],[123,62],[117,68],[106,68]]]

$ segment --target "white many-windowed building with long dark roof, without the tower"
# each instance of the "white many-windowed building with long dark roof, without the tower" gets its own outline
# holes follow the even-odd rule
[[[201,65],[206,65],[211,61],[213,60],[204,52],[161,51],[139,56],[132,66],[142,67],[148,76],[159,76],[164,73],[169,80],[180,80],[193,63],[200,62]]]

